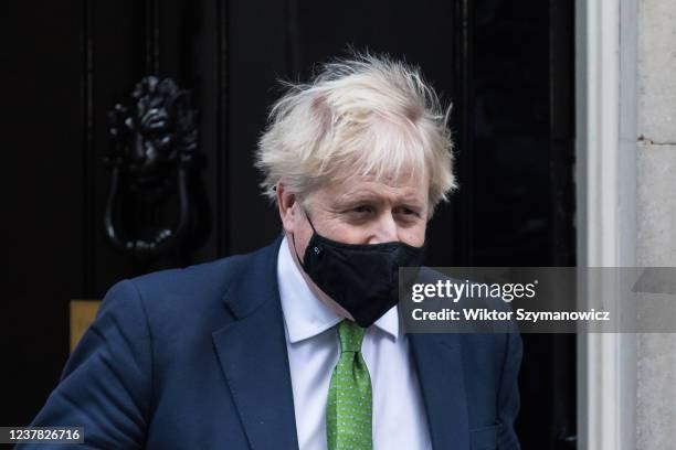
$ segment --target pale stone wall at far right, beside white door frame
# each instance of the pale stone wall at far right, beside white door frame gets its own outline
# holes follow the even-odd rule
[[[676,267],[676,1],[638,11],[636,257]],[[640,334],[636,352],[636,448],[676,448],[676,334]]]

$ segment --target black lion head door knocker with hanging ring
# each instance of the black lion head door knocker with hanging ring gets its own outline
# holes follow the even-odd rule
[[[136,85],[134,107],[108,113],[112,150],[105,232],[113,245],[147,257],[176,250],[191,222],[189,176],[198,158],[197,111],[169,78]]]

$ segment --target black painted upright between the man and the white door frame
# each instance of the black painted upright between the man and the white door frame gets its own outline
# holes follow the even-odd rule
[[[475,3],[472,30],[474,266],[574,266],[572,7]],[[466,174],[467,175],[467,174]],[[574,335],[524,335],[525,449],[575,435]]]

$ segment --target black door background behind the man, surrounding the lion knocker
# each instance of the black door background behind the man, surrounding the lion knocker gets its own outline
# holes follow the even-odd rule
[[[0,425],[27,425],[56,385],[70,300],[101,299],[122,278],[271,242],[281,224],[260,194],[252,154],[279,95],[275,79],[304,79],[346,44],[419,64],[454,104],[461,189],[430,224],[429,265],[575,264],[572,0],[35,0],[11,8],[2,56],[11,114]],[[144,259],[106,239],[104,158],[106,111],[128,103],[150,74],[191,89],[203,164],[190,179],[189,239]],[[171,206],[163,211],[162,221],[171,217]],[[152,228],[147,219],[120,221],[142,232]],[[574,338],[524,339],[522,446],[574,448],[564,442],[575,435]]]

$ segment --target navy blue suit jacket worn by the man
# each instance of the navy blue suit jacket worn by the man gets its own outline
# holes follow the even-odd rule
[[[31,425],[82,426],[77,448],[297,449],[279,244],[116,283]],[[409,338],[433,448],[518,449],[519,335]]]

